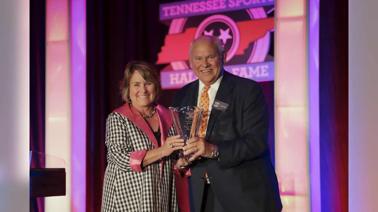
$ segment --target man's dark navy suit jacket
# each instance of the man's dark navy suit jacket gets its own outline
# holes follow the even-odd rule
[[[197,106],[197,97],[195,80],[177,91],[172,106]],[[229,104],[225,112],[212,108],[205,135],[217,144],[219,161],[202,158],[191,164],[191,211],[201,209],[205,172],[226,211],[281,211],[268,146],[269,111],[260,84],[223,70],[215,100]]]

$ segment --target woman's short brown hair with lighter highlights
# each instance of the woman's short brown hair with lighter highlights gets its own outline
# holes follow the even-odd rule
[[[141,76],[144,78],[144,80],[152,82],[155,85],[156,95],[153,101],[158,100],[161,94],[160,77],[158,75],[158,72],[156,72],[155,67],[144,61],[130,61],[129,63],[127,63],[124,72],[124,77],[119,86],[119,89],[121,90],[122,94],[122,99],[130,103],[130,100],[128,98],[129,86],[131,76],[134,73],[134,71],[138,71],[139,74],[141,74]]]

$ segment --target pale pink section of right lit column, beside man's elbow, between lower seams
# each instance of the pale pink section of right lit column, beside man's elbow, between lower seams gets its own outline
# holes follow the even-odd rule
[[[277,170],[283,195],[307,194],[307,144],[304,107],[279,107],[277,111]],[[303,211],[303,210],[302,210]]]

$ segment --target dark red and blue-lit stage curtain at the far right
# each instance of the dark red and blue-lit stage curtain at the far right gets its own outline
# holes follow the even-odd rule
[[[345,1],[320,2],[319,31],[321,204],[322,211],[343,212],[348,211],[348,4]]]

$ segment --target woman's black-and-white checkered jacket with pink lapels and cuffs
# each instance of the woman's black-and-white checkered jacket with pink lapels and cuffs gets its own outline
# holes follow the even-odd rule
[[[163,145],[175,131],[169,111],[160,104],[155,106]],[[164,157],[142,170],[144,155],[158,144],[135,108],[126,103],[108,116],[105,143],[108,166],[101,211],[179,211],[174,177],[177,155]]]

